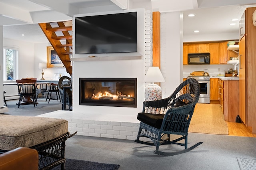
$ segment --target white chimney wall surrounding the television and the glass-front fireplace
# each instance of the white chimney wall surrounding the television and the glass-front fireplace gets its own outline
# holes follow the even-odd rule
[[[136,10],[138,19],[138,54],[142,59],[115,61],[73,61],[73,112],[137,115],[142,111],[144,101],[144,10]],[[129,11],[130,12],[130,11]],[[93,14],[91,14],[93,15]],[[73,24],[74,25],[74,24]],[[73,28],[74,29],[74,28]],[[73,39],[74,41],[74,39]],[[128,54],[105,54],[110,57],[129,57]],[[97,55],[103,57],[104,55]],[[87,58],[88,55],[74,55],[74,58]],[[79,105],[79,78],[137,78],[137,107],[107,107]],[[124,120],[125,121],[125,120]]]

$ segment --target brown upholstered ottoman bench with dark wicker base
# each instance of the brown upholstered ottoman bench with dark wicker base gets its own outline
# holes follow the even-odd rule
[[[18,147],[38,150],[39,169],[62,164],[65,141],[69,137],[68,121],[47,117],[0,115],[0,152]]]

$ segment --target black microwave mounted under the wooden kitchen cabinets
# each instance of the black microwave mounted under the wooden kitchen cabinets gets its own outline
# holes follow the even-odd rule
[[[210,64],[210,53],[189,53],[188,64]]]

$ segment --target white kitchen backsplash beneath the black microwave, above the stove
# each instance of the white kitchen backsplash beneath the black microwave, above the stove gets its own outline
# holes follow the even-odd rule
[[[224,74],[228,72],[228,68],[234,68],[231,64],[205,64],[205,65],[183,65],[183,77],[186,78],[193,71],[204,71],[207,69],[209,75],[217,76],[218,74]]]

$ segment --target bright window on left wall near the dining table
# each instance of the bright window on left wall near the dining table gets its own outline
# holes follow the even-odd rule
[[[3,72],[4,81],[6,80],[16,80],[16,61],[18,57],[18,49],[4,47],[3,55]]]

